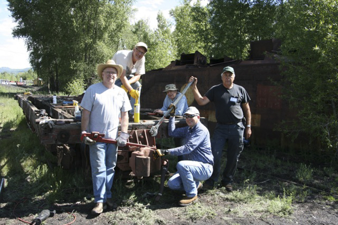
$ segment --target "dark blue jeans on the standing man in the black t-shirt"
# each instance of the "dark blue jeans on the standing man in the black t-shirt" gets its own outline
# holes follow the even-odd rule
[[[236,173],[237,162],[240,153],[243,151],[243,132],[245,127],[242,122],[234,125],[216,125],[213,138],[211,139],[211,150],[214,156],[214,172],[211,177],[205,181],[206,184],[214,186],[218,181],[221,167],[222,151],[228,141],[227,163],[222,175],[223,185],[233,182]]]

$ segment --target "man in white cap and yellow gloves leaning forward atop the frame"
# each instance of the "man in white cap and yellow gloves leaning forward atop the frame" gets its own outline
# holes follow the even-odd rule
[[[130,115],[134,115],[135,99],[139,98],[140,93],[137,88],[141,86],[139,82],[141,75],[145,74],[144,55],[147,51],[148,46],[139,42],[132,51],[120,50],[112,56],[112,59],[123,67],[122,75],[120,79],[116,80],[116,85],[130,93],[130,104],[133,107]]]

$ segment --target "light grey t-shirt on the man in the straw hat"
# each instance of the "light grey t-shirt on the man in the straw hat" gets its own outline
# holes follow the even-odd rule
[[[119,132],[119,114],[132,109],[127,93],[120,87],[106,88],[102,82],[91,85],[81,101],[81,107],[90,111],[87,132],[103,133],[104,138],[116,139]]]

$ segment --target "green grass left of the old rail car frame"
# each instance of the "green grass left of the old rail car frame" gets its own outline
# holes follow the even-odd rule
[[[4,199],[13,201],[44,196],[49,202],[57,202],[78,200],[88,195],[91,182],[80,171],[69,173],[59,167],[47,166],[50,158],[55,156],[46,151],[37,135],[28,128],[14,95],[6,94],[12,88],[1,88],[0,176],[6,178],[6,189],[10,190],[5,192]]]

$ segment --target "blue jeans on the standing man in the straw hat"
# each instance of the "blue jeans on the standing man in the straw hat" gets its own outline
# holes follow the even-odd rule
[[[97,142],[89,146],[89,155],[95,202],[106,202],[107,198],[111,198],[117,147],[115,144]]]

